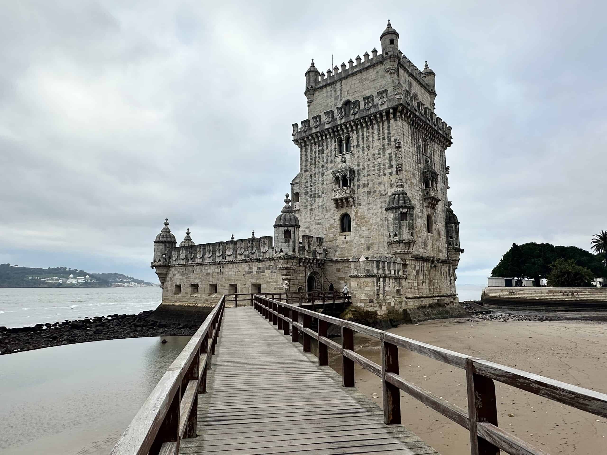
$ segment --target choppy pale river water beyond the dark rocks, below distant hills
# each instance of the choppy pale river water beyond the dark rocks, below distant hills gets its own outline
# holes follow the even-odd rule
[[[137,314],[160,305],[162,289],[17,288],[0,289],[0,326],[24,327],[45,322]]]

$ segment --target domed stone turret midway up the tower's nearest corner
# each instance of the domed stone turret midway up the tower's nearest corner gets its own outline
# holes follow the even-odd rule
[[[415,244],[415,206],[401,179],[396,182],[396,190],[388,197],[387,212],[388,251],[401,258],[404,269],[413,254]]]

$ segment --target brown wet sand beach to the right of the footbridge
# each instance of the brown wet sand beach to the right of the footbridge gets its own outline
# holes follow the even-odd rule
[[[607,393],[607,324],[463,321],[430,321],[389,331]],[[381,363],[379,342],[358,335],[354,341],[356,352]],[[331,357],[337,371],[340,362],[339,357]],[[467,409],[463,370],[401,348],[399,366],[401,376],[410,382]],[[356,386],[381,406],[379,378],[358,365],[355,368]],[[605,453],[606,419],[498,382],[495,389],[500,427],[552,455]],[[470,454],[469,433],[463,427],[404,393],[401,411],[402,423],[440,453]]]

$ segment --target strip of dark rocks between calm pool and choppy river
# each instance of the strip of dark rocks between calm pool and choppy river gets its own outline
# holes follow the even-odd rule
[[[189,325],[158,321],[151,317],[153,313],[150,310],[139,314],[112,314],[30,327],[0,326],[0,355],[101,340],[191,336],[200,327],[200,322]]]

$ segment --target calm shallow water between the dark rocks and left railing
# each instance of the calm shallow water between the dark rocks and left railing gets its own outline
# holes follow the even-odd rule
[[[109,453],[189,337],[0,356],[0,454]]]

